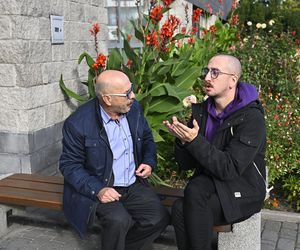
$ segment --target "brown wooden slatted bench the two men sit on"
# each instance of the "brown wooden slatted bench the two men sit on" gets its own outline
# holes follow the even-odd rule
[[[161,198],[162,203],[171,207],[173,202],[183,197],[183,190],[166,186],[153,187]],[[0,180],[0,203],[9,210],[9,206],[38,207],[62,210],[63,178],[60,176],[42,176],[37,174],[13,174]],[[3,210],[3,206],[2,206]],[[7,211],[1,215],[2,224],[6,231]],[[4,217],[4,218],[3,218]],[[215,232],[230,232],[231,225],[215,226]]]

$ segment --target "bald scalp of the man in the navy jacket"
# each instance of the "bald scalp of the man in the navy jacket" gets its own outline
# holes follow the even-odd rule
[[[130,80],[123,72],[118,70],[106,70],[97,77],[95,92],[100,99],[102,94],[113,93],[113,90],[118,91],[118,89],[128,83],[130,83]]]

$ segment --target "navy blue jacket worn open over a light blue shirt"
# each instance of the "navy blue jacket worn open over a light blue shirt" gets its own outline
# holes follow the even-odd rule
[[[142,109],[134,102],[127,114],[135,163],[156,166],[156,147]],[[98,99],[92,99],[70,115],[63,127],[63,152],[59,169],[64,176],[63,209],[81,237],[92,222],[98,192],[114,181],[111,151],[102,124]]]

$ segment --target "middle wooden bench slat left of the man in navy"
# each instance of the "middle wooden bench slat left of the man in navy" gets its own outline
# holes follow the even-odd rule
[[[14,180],[14,179],[3,179],[0,182],[0,187],[13,187],[13,188],[20,188],[20,189],[29,189],[29,190],[38,190],[38,191],[45,191],[53,193],[63,193],[63,183],[59,184],[52,184],[52,183],[43,183],[43,182],[32,182],[28,180]],[[22,192],[22,190],[20,190]]]

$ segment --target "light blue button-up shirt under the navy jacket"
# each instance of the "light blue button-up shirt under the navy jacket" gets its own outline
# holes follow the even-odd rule
[[[114,186],[128,187],[136,180],[132,137],[126,116],[113,120],[100,106],[103,126],[113,153]]]

